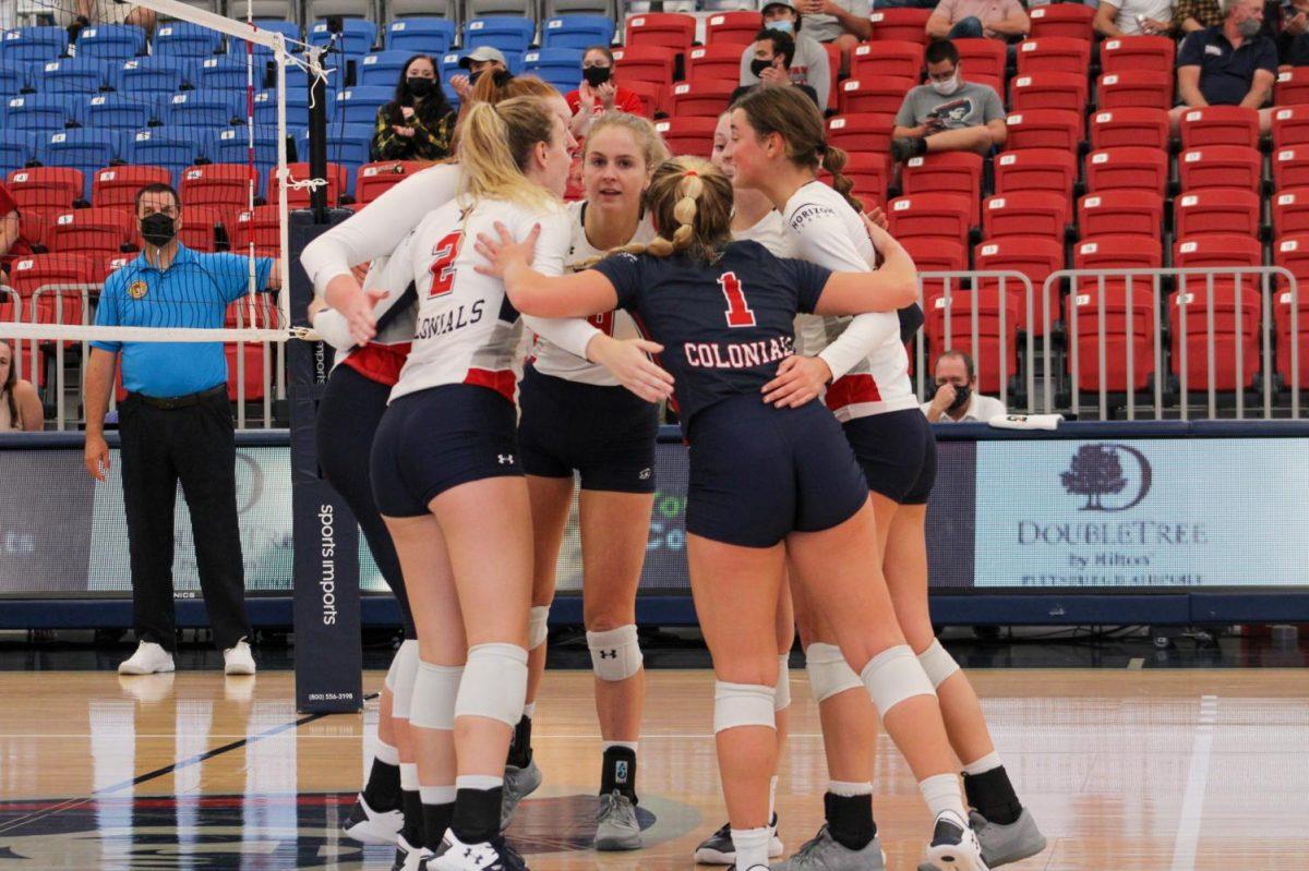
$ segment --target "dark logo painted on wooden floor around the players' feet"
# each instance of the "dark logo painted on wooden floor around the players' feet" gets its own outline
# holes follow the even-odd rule
[[[340,836],[353,802],[347,793],[0,802],[0,871],[389,867],[390,847]],[[509,841],[525,855],[589,850],[596,808],[594,795],[529,799]],[[636,816],[647,846],[700,823],[692,808],[656,796],[643,796]]]

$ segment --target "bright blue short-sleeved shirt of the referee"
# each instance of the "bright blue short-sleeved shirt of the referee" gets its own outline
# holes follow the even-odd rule
[[[255,259],[255,288],[267,290],[271,258]],[[97,327],[221,330],[228,305],[245,296],[250,265],[234,254],[202,254],[177,243],[162,272],[143,252],[105,280]],[[228,360],[220,341],[93,341],[122,352],[123,387],[147,396],[187,396],[225,384]]]

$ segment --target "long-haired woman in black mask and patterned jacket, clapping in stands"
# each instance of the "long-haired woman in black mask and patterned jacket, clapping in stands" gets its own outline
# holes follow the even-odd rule
[[[454,110],[436,76],[436,61],[414,55],[401,69],[395,98],[377,110],[374,161],[440,161],[450,156]]]

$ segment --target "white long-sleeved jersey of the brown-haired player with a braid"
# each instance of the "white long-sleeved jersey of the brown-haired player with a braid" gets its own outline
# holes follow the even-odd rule
[[[867,272],[874,250],[859,213],[833,188],[810,182],[787,200],[783,218],[798,256],[838,272]],[[908,354],[894,311],[823,318],[817,336],[797,335],[798,353],[819,356],[831,369],[827,407],[844,422],[918,408]],[[813,341],[817,339],[817,341]]]

